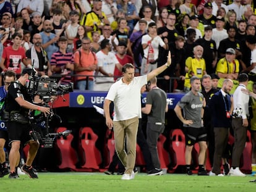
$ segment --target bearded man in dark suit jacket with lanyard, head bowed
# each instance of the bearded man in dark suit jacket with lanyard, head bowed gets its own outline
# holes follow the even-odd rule
[[[231,127],[231,96],[233,81],[226,78],[220,91],[215,93],[210,100],[210,109],[215,133],[215,153],[213,168],[210,176],[223,176],[220,169],[221,157],[228,143],[229,128]]]

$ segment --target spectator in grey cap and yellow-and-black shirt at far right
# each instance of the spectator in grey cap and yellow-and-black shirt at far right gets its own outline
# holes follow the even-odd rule
[[[236,80],[239,73],[239,61],[236,59],[236,51],[233,48],[226,50],[224,58],[218,61],[216,74],[220,78],[230,78]]]

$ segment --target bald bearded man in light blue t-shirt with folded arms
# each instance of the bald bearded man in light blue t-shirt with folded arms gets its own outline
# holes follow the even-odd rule
[[[51,61],[53,53],[59,50],[56,44],[59,40],[59,36],[51,33],[51,30],[53,30],[53,24],[50,20],[45,20],[45,22],[43,22],[43,31],[40,33],[42,38],[41,46],[47,52],[49,61]]]

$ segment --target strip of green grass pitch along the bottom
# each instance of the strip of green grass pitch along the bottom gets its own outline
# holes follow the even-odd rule
[[[104,173],[38,173],[39,179],[20,175],[11,180],[0,178],[0,191],[255,191],[256,177],[209,177],[184,174],[147,176],[138,173],[134,180],[121,180],[121,175]]]

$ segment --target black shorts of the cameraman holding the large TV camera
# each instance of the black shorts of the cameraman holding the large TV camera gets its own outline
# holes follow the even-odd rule
[[[32,127],[29,123],[19,123],[19,122],[8,122],[7,130],[9,135],[9,144],[12,141],[20,141],[22,144],[27,143],[31,140],[29,132],[32,130]]]

